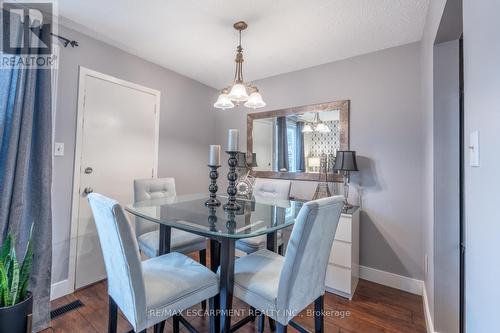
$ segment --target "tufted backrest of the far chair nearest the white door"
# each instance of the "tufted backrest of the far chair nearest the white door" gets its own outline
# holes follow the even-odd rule
[[[160,199],[175,196],[174,178],[148,178],[134,180],[134,201],[140,202],[149,199]],[[135,235],[139,237],[147,232],[158,230],[157,223],[135,218]]]

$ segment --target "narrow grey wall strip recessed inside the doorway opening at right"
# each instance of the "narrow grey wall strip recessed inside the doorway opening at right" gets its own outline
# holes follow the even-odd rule
[[[459,41],[434,47],[434,329],[459,331]]]

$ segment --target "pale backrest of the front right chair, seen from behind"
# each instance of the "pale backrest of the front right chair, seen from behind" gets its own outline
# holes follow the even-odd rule
[[[282,323],[325,292],[330,250],[344,205],[343,196],[305,203],[297,215],[278,288]],[[298,313],[295,313],[295,315]]]

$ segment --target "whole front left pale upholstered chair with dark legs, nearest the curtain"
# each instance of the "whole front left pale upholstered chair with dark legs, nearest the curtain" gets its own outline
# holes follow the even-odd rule
[[[219,292],[215,273],[181,253],[171,252],[141,262],[137,240],[123,208],[101,194],[91,193],[88,201],[94,215],[108,276],[108,332],[115,333],[118,308],[134,332],[155,326],[163,332],[165,320],[173,317],[174,332],[179,323],[194,329],[180,313]],[[214,327],[213,316],[210,326]]]

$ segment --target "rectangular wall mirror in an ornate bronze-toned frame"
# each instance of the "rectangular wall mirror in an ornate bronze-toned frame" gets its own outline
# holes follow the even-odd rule
[[[341,182],[332,169],[338,150],[349,150],[349,100],[247,115],[255,177]]]

